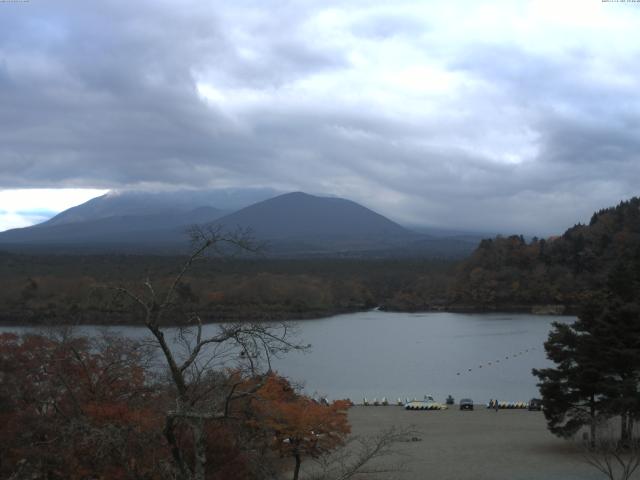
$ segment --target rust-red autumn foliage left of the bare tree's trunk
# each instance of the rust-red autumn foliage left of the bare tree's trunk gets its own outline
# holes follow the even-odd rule
[[[131,478],[133,458],[155,470],[162,416],[145,382],[129,343],[0,335],[0,477],[22,459],[71,480]]]

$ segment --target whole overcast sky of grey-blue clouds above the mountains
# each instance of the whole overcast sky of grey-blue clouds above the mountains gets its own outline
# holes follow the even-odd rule
[[[0,230],[250,186],[561,232],[639,193],[639,32],[601,0],[0,3],[0,189],[98,189],[5,191]]]

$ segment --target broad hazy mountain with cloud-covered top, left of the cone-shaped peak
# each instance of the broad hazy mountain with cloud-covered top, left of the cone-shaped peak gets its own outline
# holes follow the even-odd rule
[[[186,230],[272,197],[268,188],[114,191],[26,228],[0,232],[9,250],[73,253],[176,252],[188,245]]]

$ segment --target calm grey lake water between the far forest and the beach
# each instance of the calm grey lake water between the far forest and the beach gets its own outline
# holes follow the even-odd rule
[[[553,321],[573,318],[524,314],[361,312],[297,322],[308,353],[274,361],[275,369],[331,399],[387,397],[395,401],[430,394],[444,401],[470,397],[526,401],[539,396],[532,368],[549,365],[543,342]],[[208,325],[215,329],[215,325]],[[1,331],[33,331],[0,327]],[[82,327],[95,334],[102,328]],[[141,338],[140,327],[111,332]]]

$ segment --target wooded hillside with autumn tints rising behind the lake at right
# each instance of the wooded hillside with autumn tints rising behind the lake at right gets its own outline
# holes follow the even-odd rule
[[[640,199],[595,213],[560,237],[483,240],[460,266],[450,302],[492,308],[561,305],[569,310],[603,288],[608,273],[640,259]]]

